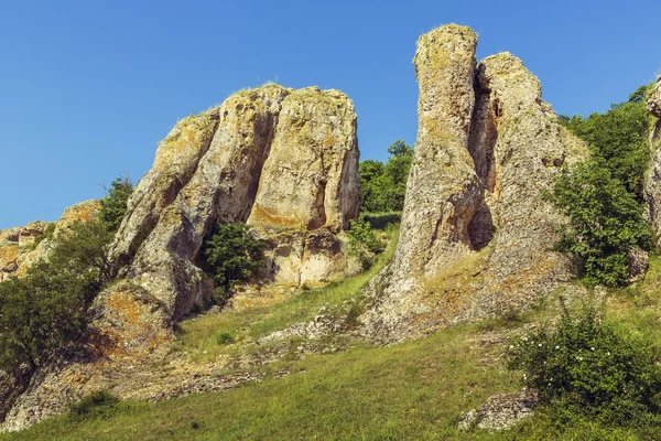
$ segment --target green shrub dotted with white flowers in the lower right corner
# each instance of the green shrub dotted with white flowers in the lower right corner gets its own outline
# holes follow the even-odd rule
[[[563,303],[557,329],[510,341],[506,355],[556,418],[627,426],[661,410],[658,347],[603,320],[594,306],[571,314]]]

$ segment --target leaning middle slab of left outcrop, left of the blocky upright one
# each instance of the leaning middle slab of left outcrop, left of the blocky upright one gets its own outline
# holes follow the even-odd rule
[[[289,90],[267,86],[228,98],[208,151],[169,205],[132,262],[129,276],[159,297],[175,319],[213,293],[195,265],[218,222],[245,222]]]

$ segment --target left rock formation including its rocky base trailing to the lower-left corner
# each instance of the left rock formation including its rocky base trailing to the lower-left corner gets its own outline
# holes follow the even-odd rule
[[[217,223],[248,222],[268,244],[270,265],[260,276],[272,289],[243,289],[240,306],[359,270],[342,234],[358,214],[356,130],[346,95],[277,85],[240,92],[180,121],[136,187],[111,246],[123,280],[95,299],[87,337],[75,354],[40,368],[19,397],[0,377],[0,398],[15,400],[4,406],[3,429],[62,413],[72,400],[100,389],[121,398],[158,398],[158,390],[130,378],[163,357],[173,321],[213,293],[197,263]],[[71,208],[63,219],[76,213]],[[181,374],[189,380],[189,373]],[[216,383],[173,394],[240,380]]]

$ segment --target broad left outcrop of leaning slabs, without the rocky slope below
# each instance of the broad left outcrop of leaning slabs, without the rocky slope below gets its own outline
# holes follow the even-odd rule
[[[344,273],[337,259],[351,267],[335,235],[357,216],[358,198],[351,101],[337,90],[268,85],[173,129],[131,196],[111,254],[120,273],[177,320],[213,293],[197,258],[215,224],[248,222],[266,239],[291,232],[297,239],[269,250],[267,279],[297,287],[312,261],[316,281]],[[319,228],[334,240],[315,240]],[[326,243],[332,248],[314,248]]]

